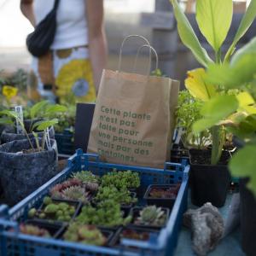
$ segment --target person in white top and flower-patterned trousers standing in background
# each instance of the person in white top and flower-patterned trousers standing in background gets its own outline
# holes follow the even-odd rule
[[[37,26],[55,0],[20,0],[23,15]],[[102,0],[59,0],[49,53],[32,58],[29,96],[55,102],[95,102],[107,59]]]

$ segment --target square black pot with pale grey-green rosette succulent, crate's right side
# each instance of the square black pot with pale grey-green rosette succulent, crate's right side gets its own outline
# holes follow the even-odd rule
[[[161,229],[166,226],[170,210],[165,207],[132,207],[131,224],[149,229]]]

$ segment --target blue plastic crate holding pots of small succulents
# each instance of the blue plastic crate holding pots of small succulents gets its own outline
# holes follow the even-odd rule
[[[177,199],[166,228],[160,230],[158,236],[152,234],[149,241],[135,241],[123,239],[121,248],[96,247],[74,242],[46,239],[37,236],[27,236],[19,233],[18,219],[26,219],[31,207],[39,205],[56,183],[66,180],[72,172],[89,170],[97,175],[117,170],[131,170],[137,172],[141,178],[143,190],[149,184],[181,183]],[[176,245],[177,236],[182,224],[183,212],[187,208],[189,166],[183,164],[166,163],[165,169],[154,169],[142,166],[123,166],[103,163],[96,154],[83,154],[77,150],[68,160],[68,166],[58,175],[49,180],[31,195],[20,201],[15,207],[8,209],[0,207],[0,255],[19,256],[75,256],[75,255],[166,255],[171,256]],[[12,229],[13,231],[9,231]],[[128,247],[138,247],[132,252]]]

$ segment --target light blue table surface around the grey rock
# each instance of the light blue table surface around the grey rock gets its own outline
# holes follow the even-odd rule
[[[225,219],[228,215],[230,201],[232,194],[227,196],[224,207],[219,208],[219,212]],[[188,201],[188,208],[195,209],[190,202],[190,196]],[[236,228],[230,235],[225,236],[221,241],[219,241],[218,246],[208,253],[208,256],[246,256],[245,253],[241,250],[240,244],[241,233],[239,227]],[[192,242],[191,242],[191,232],[187,228],[182,228],[177,241],[177,248],[174,253],[174,256],[192,256],[196,255],[192,250]]]

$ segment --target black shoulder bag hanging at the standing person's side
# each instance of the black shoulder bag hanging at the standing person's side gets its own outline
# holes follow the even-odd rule
[[[59,2],[60,0],[55,0],[54,8],[35,27],[34,32],[30,33],[26,38],[27,49],[36,57],[45,55],[55,39],[56,14]]]

